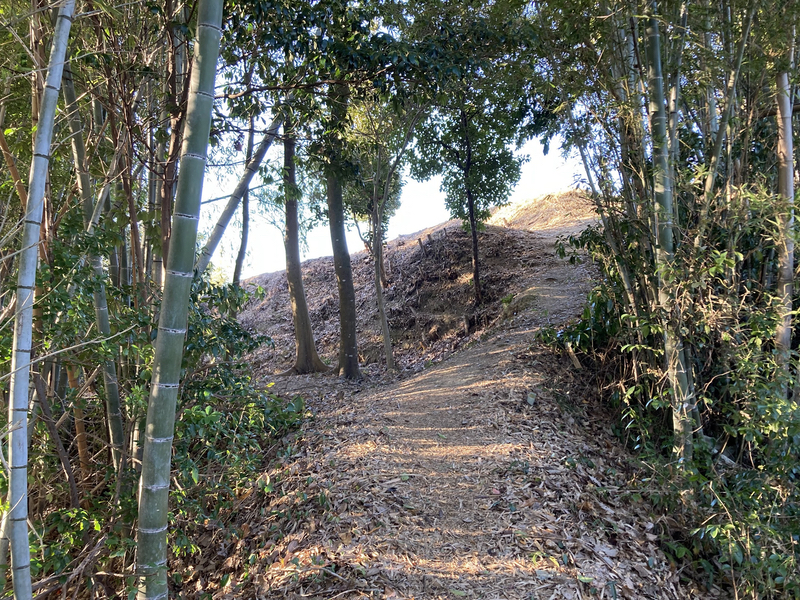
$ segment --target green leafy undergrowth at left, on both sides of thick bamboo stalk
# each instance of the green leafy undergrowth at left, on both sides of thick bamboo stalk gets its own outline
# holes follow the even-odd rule
[[[86,293],[91,292],[89,289]],[[129,290],[112,289],[109,295],[115,301],[126,293]],[[245,330],[235,318],[252,295],[239,287],[212,285],[206,280],[196,281],[192,289],[172,456],[169,544],[174,556],[213,551],[198,547],[192,541],[193,533],[209,523],[226,527],[221,515],[231,512],[237,494],[265,470],[272,456],[270,449],[306,416],[302,398],[280,398],[271,392],[271,384],[264,386],[254,379],[247,355],[271,341]],[[76,314],[91,310],[85,294],[73,294],[64,302]],[[149,314],[157,314],[155,308]],[[120,370],[127,375],[120,382],[133,439],[127,468],[121,476],[117,477],[107,461],[107,442],[90,438],[90,450],[96,457],[93,470],[77,471],[82,501],[80,507],[70,507],[52,439],[41,420],[34,425],[31,477],[42,484],[35,489],[43,492],[41,497],[31,498],[31,568],[34,580],[45,584],[39,590],[56,590],[65,582],[81,580],[87,588],[99,585],[106,593],[121,593],[121,586],[127,586],[127,591],[133,589],[132,577],[91,575],[92,569],[131,573],[135,552],[133,532],[141,446],[133,430],[144,427],[152,361],[149,332],[155,330],[155,322],[145,319],[142,315],[148,313],[144,311],[130,310],[125,314],[136,325],[126,344],[116,349],[98,346],[79,357],[82,363],[91,365],[113,353]],[[56,325],[52,330],[57,335]],[[126,325],[130,327],[130,323],[115,323],[120,329]],[[0,342],[5,355],[10,339],[4,337]],[[67,407],[67,423],[74,420],[69,406],[80,407],[87,423],[103,420],[103,391],[99,382],[93,386],[81,397],[69,387],[54,390],[58,407]],[[71,428],[63,429],[61,436],[65,446],[74,448],[76,440]],[[4,473],[0,475],[3,497],[8,484]],[[93,565],[80,568],[81,561],[93,549],[97,550]]]

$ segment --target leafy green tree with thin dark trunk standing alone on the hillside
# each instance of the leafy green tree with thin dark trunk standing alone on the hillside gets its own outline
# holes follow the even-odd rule
[[[445,30],[469,33],[452,34],[449,77],[419,127],[412,161],[415,177],[442,176],[452,216],[471,233],[476,305],[483,301],[478,231],[489,209],[504,203],[519,180],[522,159],[509,145],[527,135],[526,122],[537,130],[540,116],[526,93],[533,72],[520,58],[531,38],[521,7],[515,8],[442,7],[432,17]]]

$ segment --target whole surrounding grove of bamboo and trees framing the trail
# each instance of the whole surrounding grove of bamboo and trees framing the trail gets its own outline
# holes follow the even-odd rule
[[[681,517],[675,560],[739,597],[800,597],[798,18],[777,0],[4,2],[8,590],[183,593],[169,558],[302,418],[253,383],[243,357],[265,340],[235,320],[256,187],[285,227],[291,372],[331,370],[306,211],[333,243],[332,370],[357,379],[348,220],[393,369],[382,252],[403,173],[443,176],[479,304],[481,222],[519,178],[513,146],[538,137],[581,158],[598,225],[562,249],[602,271],[582,319],[544,338],[593,362],[621,437],[664,466],[651,490]],[[205,227],[204,173],[225,169],[238,184]],[[237,213],[238,274],[213,285]]]

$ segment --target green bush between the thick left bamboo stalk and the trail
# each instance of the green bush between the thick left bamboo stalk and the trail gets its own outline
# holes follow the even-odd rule
[[[193,288],[173,458],[173,518],[184,533],[218,518],[266,466],[265,448],[306,416],[302,398],[284,400],[253,379],[247,355],[271,342],[230,316],[252,298],[204,280]]]

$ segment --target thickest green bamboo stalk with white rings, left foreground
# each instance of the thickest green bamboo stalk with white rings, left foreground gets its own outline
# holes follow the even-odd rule
[[[222,22],[222,0],[199,0],[194,65],[189,84],[180,171],[172,217],[164,297],[158,321],[153,378],[147,406],[142,476],[139,482],[139,526],[136,570],[138,598],[167,598],[167,521],[172,438],[180,384],[189,294],[194,274],[194,247],[206,166],[214,80]]]

